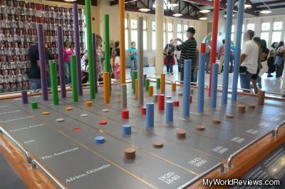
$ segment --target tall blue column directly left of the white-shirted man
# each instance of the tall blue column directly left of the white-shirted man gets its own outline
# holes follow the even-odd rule
[[[244,0],[239,0],[239,12],[237,13],[236,54],[234,56],[234,76],[232,78],[232,101],[237,101],[237,83],[239,81],[239,56],[242,47],[243,22],[244,22]]]

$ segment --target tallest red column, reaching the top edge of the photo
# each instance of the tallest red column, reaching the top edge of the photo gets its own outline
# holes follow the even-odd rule
[[[216,62],[217,56],[217,37],[218,37],[218,25],[219,25],[219,0],[214,0],[214,16],[213,16],[213,29],[212,29],[212,48],[210,59],[210,72],[209,72],[209,96],[211,96],[212,90],[212,64]]]

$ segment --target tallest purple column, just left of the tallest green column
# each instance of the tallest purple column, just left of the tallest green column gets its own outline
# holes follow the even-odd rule
[[[82,82],[81,82],[81,48],[79,40],[79,23],[78,23],[78,6],[73,3],[73,31],[74,31],[74,44],[76,50],[76,65],[77,65],[77,83],[78,95],[82,96]]]

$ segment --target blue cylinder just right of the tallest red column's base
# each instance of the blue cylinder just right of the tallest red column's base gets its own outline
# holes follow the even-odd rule
[[[219,72],[219,64],[213,63],[212,66],[212,90],[211,90],[211,108],[216,108],[217,106],[217,86],[218,86],[218,72]]]

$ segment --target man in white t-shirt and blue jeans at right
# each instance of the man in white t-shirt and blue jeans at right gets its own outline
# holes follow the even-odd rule
[[[250,81],[252,75],[257,74],[258,61],[259,61],[259,46],[252,41],[254,37],[254,31],[248,30],[244,34],[244,47],[242,48],[242,54],[239,58],[240,71],[239,79],[241,87],[245,89],[251,89]]]

